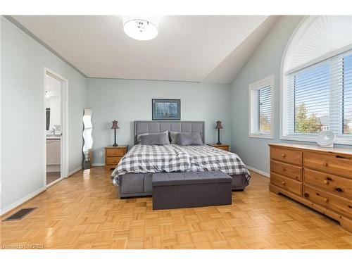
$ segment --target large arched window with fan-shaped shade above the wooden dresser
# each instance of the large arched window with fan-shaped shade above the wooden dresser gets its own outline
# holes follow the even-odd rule
[[[352,144],[352,16],[308,16],[282,58],[281,139]]]

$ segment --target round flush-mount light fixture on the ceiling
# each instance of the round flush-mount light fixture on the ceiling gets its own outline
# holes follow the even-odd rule
[[[123,18],[123,31],[132,39],[154,39],[158,35],[158,21],[155,18],[129,16]]]

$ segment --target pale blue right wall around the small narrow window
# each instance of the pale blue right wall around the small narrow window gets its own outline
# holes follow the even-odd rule
[[[280,116],[280,67],[284,49],[303,16],[285,15],[270,30],[254,51],[249,61],[232,83],[232,151],[238,153],[246,165],[269,172],[270,143],[315,144],[310,142],[283,141],[279,139]],[[275,76],[274,139],[248,137],[249,130],[249,84],[268,75]],[[337,145],[339,147],[348,147]]]

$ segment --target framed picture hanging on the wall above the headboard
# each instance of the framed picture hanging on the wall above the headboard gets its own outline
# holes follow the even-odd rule
[[[152,99],[152,120],[181,120],[180,99]]]

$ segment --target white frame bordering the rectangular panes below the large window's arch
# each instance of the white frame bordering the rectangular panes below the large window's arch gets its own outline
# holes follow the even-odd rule
[[[337,51],[332,51],[329,54],[325,54],[324,56],[321,56],[320,58],[317,58],[313,61],[310,61],[308,63],[305,63],[304,65],[301,65],[301,67],[294,68],[293,70],[289,70],[287,73],[283,73],[282,70],[282,75],[281,75],[281,85],[280,85],[280,139],[283,140],[294,140],[294,141],[299,141],[299,142],[317,142],[317,135],[318,134],[289,134],[285,131],[285,128],[287,127],[287,108],[284,104],[284,101],[287,96],[287,87],[284,85],[284,83],[287,80],[287,75],[289,73],[296,72],[298,70],[301,70],[303,68],[308,68],[313,65],[318,65],[319,63],[326,61],[329,58],[333,58],[339,54],[343,54],[345,51],[348,51],[351,49],[351,45],[348,45],[342,49],[339,49]],[[334,80],[332,80],[333,82]],[[337,100],[337,99],[335,99]],[[330,102],[331,103],[331,102]],[[329,118],[331,118],[329,116]],[[343,117],[341,117],[343,118]],[[334,143],[336,144],[345,144],[345,145],[352,145],[352,136],[351,135],[344,135],[344,134],[337,134],[334,140]]]

